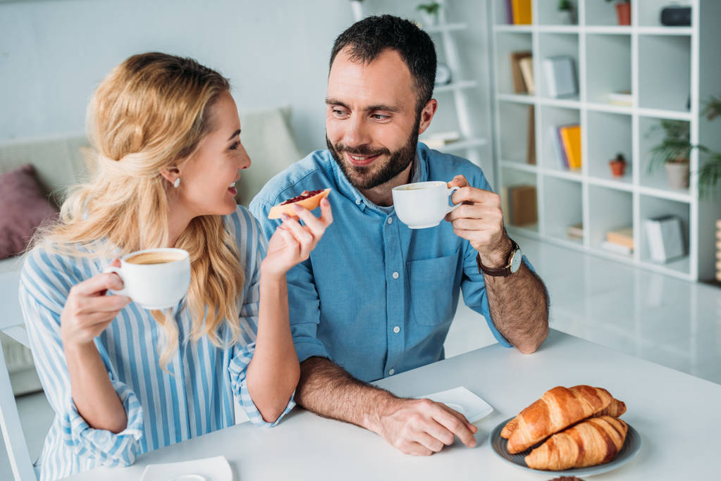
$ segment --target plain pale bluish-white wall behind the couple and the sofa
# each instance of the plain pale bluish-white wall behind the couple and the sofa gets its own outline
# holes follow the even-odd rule
[[[409,18],[419,17],[418,3],[363,2],[367,14]],[[473,27],[459,34],[466,42],[464,76],[485,89],[486,1],[448,4],[450,17]],[[301,150],[324,148],[327,60],[333,40],[351,23],[350,1],[343,0],[0,1],[0,140],[82,132],[87,102],[103,76],[133,53],[161,50],[221,71],[241,109],[290,104]],[[473,120],[490,139],[482,89],[471,93]],[[452,99],[443,95],[433,128],[452,130]],[[490,176],[490,148],[484,158]]]

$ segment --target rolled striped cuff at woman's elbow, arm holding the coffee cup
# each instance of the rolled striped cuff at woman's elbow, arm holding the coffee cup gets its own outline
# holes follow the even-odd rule
[[[130,466],[135,462],[138,443],[143,436],[143,407],[130,387],[114,379],[110,381],[128,414],[125,429],[115,434],[91,428],[70,398],[61,420],[63,442],[79,457],[94,459],[103,466]]]

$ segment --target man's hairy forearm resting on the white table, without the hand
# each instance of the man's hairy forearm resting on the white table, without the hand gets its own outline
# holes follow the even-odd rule
[[[311,357],[301,363],[296,403],[324,418],[379,433],[384,406],[396,399],[386,390],[355,379],[328,359]]]

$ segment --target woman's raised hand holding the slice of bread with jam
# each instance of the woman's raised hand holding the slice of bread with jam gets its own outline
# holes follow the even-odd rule
[[[320,217],[298,204],[293,207],[298,217],[284,215],[283,223],[268,241],[268,251],[261,265],[267,274],[284,276],[291,267],[308,259],[325,229],[333,222],[328,199],[320,201]],[[306,225],[301,225],[298,218]]]

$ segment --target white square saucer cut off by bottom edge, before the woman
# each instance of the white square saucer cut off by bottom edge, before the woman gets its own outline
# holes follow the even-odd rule
[[[224,456],[192,461],[148,464],[140,481],[233,481],[233,471]]]

